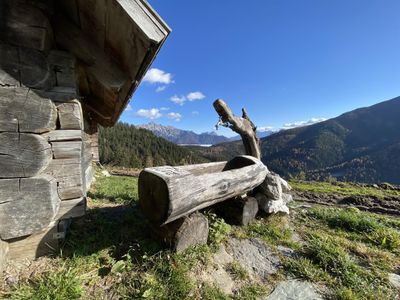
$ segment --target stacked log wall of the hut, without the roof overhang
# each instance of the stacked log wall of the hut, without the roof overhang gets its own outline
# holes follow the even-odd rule
[[[53,14],[51,1],[0,0],[0,270],[57,250],[93,180],[97,124],[76,58],[56,49]]]

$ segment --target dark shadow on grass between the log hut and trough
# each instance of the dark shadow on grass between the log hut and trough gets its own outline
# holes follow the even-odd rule
[[[136,204],[98,207],[88,210],[85,217],[74,220],[65,244],[67,257],[90,256],[107,249],[115,260],[128,252],[138,256],[154,254],[164,246],[151,238],[147,221]]]

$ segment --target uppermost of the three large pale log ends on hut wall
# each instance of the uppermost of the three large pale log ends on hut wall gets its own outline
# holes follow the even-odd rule
[[[50,99],[24,87],[0,88],[0,132],[48,132],[56,128],[56,119]]]

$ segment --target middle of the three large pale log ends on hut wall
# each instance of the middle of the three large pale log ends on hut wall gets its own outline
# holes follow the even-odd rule
[[[32,177],[50,163],[50,144],[40,135],[0,133],[0,178]]]

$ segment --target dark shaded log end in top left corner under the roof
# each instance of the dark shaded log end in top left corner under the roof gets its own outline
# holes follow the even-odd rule
[[[53,44],[53,32],[46,15],[24,1],[1,3],[0,40],[10,44],[46,51]]]

